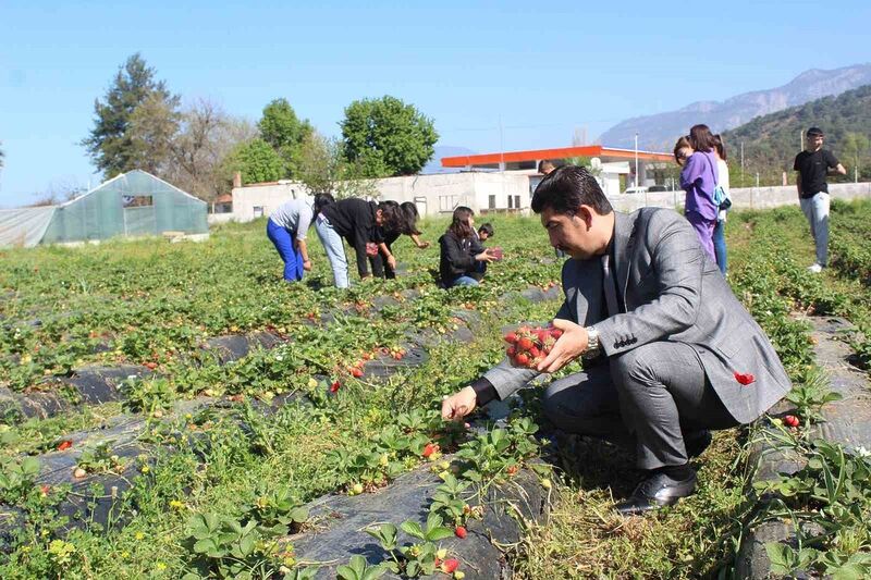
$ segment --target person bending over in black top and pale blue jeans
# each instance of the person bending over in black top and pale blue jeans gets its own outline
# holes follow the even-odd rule
[[[330,260],[336,287],[346,288],[351,285],[342,238],[347,240],[357,255],[357,272],[360,279],[369,276],[369,257],[372,258],[372,274],[384,277],[383,262],[378,255],[378,244],[383,242],[381,227],[392,231],[397,227],[397,220],[394,207],[357,197],[340,199],[321,209],[315,229]],[[367,250],[371,256],[367,255]]]

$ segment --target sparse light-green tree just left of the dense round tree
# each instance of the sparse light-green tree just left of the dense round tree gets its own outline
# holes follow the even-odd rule
[[[329,193],[336,199],[376,195],[375,182],[364,178],[360,168],[345,159],[342,143],[316,132],[299,147],[296,178],[309,192]]]

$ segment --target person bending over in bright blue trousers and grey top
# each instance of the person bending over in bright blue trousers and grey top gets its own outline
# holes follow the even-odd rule
[[[320,203],[332,200],[332,196],[326,195],[329,199],[320,198]],[[266,222],[266,235],[284,262],[284,280],[287,282],[299,282],[303,273],[311,270],[306,234],[315,218],[317,202],[318,199],[308,196],[291,199],[279,206]]]

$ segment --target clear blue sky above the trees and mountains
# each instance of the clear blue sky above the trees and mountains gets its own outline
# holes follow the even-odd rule
[[[253,121],[284,97],[336,135],[353,100],[393,95],[480,152],[871,61],[867,0],[586,4],[0,0],[0,207],[99,183],[77,143],[137,51],[183,99]]]

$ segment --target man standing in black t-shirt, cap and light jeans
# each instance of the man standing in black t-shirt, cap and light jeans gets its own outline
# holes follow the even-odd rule
[[[798,172],[796,186],[801,211],[810,223],[810,233],[817,246],[817,262],[808,268],[819,273],[829,263],[829,184],[825,177],[830,170],[842,175],[847,173],[838,163],[832,151],[823,149],[825,135],[817,127],[808,129],[808,144],[805,150],[796,156],[793,166]]]

